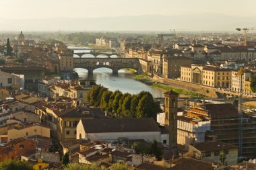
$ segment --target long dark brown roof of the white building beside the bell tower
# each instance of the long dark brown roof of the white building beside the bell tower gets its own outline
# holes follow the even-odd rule
[[[86,133],[160,132],[153,118],[113,118],[82,120]]]

